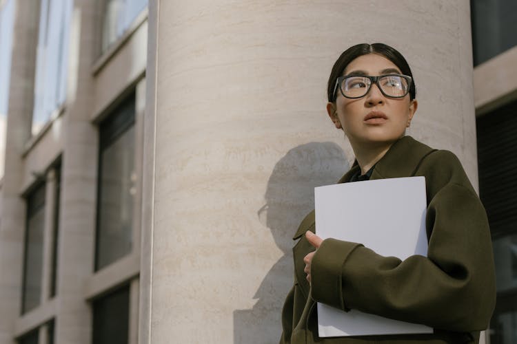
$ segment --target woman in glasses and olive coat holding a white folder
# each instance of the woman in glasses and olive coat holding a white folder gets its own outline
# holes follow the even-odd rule
[[[332,68],[327,95],[327,113],[356,155],[339,182],[425,177],[427,257],[401,261],[361,243],[322,240],[313,234],[313,211],[294,236],[281,343],[478,343],[496,294],[485,209],[453,153],[404,136],[418,107],[405,58],[381,43],[350,47]],[[316,302],[434,333],[320,338]]]

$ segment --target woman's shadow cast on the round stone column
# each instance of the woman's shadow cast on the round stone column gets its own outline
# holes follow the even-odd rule
[[[283,301],[293,283],[292,236],[314,209],[314,187],[334,184],[348,169],[345,153],[333,142],[302,144],[276,162],[258,215],[283,256],[261,282],[253,308],[234,311],[234,343],[278,343]]]

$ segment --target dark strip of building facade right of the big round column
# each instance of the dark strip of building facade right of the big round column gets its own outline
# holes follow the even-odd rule
[[[517,3],[473,0],[479,193],[489,217],[497,304],[490,343],[517,343]]]

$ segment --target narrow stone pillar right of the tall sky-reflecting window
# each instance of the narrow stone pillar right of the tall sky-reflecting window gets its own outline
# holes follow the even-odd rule
[[[91,343],[84,286],[93,271],[96,218],[98,134],[90,121],[95,10],[95,1],[74,0],[63,124],[56,343]]]

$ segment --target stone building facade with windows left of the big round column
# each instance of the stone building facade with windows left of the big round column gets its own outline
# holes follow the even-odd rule
[[[1,3],[0,343],[138,343],[147,5]]]

